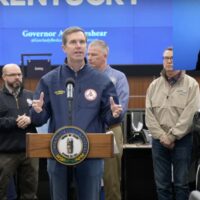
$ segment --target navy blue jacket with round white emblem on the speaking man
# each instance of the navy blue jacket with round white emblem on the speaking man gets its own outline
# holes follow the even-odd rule
[[[75,81],[72,105],[72,121],[69,120],[69,106],[66,97],[66,80]],[[44,124],[50,118],[49,132],[73,125],[86,132],[105,132],[109,126],[121,122],[122,117],[112,117],[109,97],[118,103],[113,83],[106,75],[85,65],[80,71],[74,72],[67,65],[62,65],[43,76],[37,86],[34,99],[44,92],[44,106],[41,113],[31,112],[32,121],[37,125]],[[92,91],[91,98],[88,91]]]

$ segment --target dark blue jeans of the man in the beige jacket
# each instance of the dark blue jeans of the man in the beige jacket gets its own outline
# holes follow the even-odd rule
[[[172,150],[165,148],[159,140],[153,139],[152,157],[159,200],[172,200],[173,193],[176,200],[188,200],[191,152],[192,134],[177,140]]]

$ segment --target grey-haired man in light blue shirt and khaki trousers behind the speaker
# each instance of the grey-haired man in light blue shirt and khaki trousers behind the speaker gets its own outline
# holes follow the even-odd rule
[[[109,47],[103,40],[94,40],[88,46],[89,64],[106,74],[113,82],[119,98],[119,103],[123,108],[123,115],[128,108],[129,85],[126,76],[111,68],[108,63]],[[119,152],[114,158],[107,158],[104,162],[104,190],[106,200],[121,200],[121,158],[123,153],[123,132],[121,124],[108,127],[113,131]]]

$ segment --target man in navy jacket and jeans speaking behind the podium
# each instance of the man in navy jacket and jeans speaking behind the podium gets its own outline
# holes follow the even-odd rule
[[[113,83],[86,63],[86,43],[84,30],[79,27],[66,29],[62,36],[62,48],[67,55],[65,63],[43,76],[37,86],[32,120],[42,125],[50,119],[50,133],[67,125],[88,133],[103,133],[105,125],[122,120],[122,107],[116,104],[118,98]],[[71,106],[67,102],[69,78],[74,82]],[[51,198],[70,200],[67,190],[69,168],[48,159],[47,170]],[[102,175],[103,159],[86,159],[75,166],[79,200],[99,199]]]

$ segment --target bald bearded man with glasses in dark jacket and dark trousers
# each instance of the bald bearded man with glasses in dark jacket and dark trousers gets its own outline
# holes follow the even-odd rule
[[[4,86],[0,91],[0,199],[7,199],[9,181],[17,174],[19,199],[37,199],[38,159],[26,157],[26,133],[35,133],[29,117],[32,93],[23,89],[18,65],[2,69]]]

